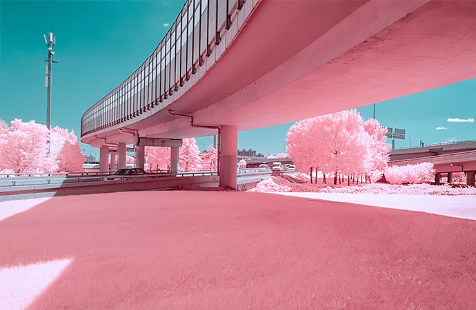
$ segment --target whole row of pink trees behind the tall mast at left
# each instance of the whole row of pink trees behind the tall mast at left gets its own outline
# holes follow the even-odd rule
[[[81,172],[85,160],[74,131],[0,119],[0,173]]]

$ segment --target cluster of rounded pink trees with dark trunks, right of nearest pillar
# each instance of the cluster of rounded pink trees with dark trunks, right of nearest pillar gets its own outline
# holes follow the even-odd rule
[[[364,119],[355,110],[308,118],[288,131],[288,154],[301,172],[321,171],[348,176],[375,176],[388,163],[386,127]],[[311,177],[312,182],[312,177]]]

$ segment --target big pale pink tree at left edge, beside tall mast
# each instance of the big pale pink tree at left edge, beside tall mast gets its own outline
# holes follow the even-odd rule
[[[48,156],[49,130],[34,121],[15,118],[10,127],[0,125],[0,170],[14,173],[54,172],[56,163]]]

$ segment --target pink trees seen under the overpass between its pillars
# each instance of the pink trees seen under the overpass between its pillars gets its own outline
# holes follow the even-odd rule
[[[217,149],[210,146],[208,152],[201,153],[195,138],[186,138],[179,148],[180,170],[217,169]],[[170,169],[170,147],[146,147],[146,163],[151,170]]]

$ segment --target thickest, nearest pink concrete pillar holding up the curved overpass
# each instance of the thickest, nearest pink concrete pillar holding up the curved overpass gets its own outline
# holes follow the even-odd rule
[[[221,126],[220,185],[237,188],[238,127]]]

